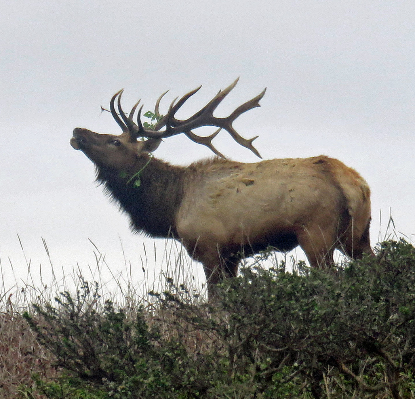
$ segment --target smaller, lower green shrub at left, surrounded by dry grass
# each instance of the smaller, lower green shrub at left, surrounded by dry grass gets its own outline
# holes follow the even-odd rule
[[[102,307],[98,288],[82,280],[75,298],[62,292],[56,307],[34,305],[36,319],[24,314],[39,343],[69,373],[70,385],[117,399],[187,398],[209,388],[200,377],[216,372],[208,355],[190,356],[180,340],[164,339],[156,323],[149,328],[142,307],[129,317],[109,300]],[[56,397],[50,391],[48,397]]]

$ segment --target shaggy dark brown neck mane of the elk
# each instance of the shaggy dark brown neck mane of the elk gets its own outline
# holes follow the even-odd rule
[[[147,161],[149,163],[146,165]],[[137,178],[128,179],[143,168]],[[184,167],[173,166],[156,158],[142,156],[135,167],[120,176],[114,168],[97,168],[97,180],[131,218],[131,228],[152,237],[176,237],[175,217],[183,198]]]

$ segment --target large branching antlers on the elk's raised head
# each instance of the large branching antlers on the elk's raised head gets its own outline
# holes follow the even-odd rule
[[[188,119],[180,120],[176,119],[174,115],[178,111],[178,109],[193,95],[195,94],[202,86],[188,92],[183,97],[181,97],[178,102],[176,102],[177,98],[173,100],[171,103],[167,114],[164,117],[161,117],[159,112],[159,104],[161,98],[167,93],[164,92],[156,101],[156,105],[154,107],[154,114],[159,117],[159,121],[156,123],[154,130],[145,129],[141,122],[141,111],[143,106],[140,107],[138,114],[137,114],[137,124],[133,122],[132,118],[134,116],[134,112],[139,104],[139,101],[132,107],[129,116],[125,114],[121,107],[121,95],[124,89],[116,92],[115,95],[112,96],[110,101],[110,110],[112,117],[115,119],[117,124],[120,125],[121,129],[125,133],[129,133],[131,140],[137,140],[137,137],[147,137],[152,139],[164,139],[166,137],[174,136],[176,134],[184,133],[188,138],[195,143],[203,144],[210,148],[216,155],[225,158],[217,149],[212,145],[212,139],[216,137],[216,135],[220,132],[221,129],[225,129],[232,138],[241,146],[244,146],[251,150],[256,156],[262,158],[259,155],[259,152],[256,148],[252,145],[252,141],[254,141],[258,136],[253,137],[252,139],[244,139],[240,136],[237,131],[232,127],[232,122],[239,117],[242,113],[248,111],[249,109],[259,107],[259,100],[264,96],[266,88],[256,97],[253,99],[245,102],[244,104],[237,107],[228,117],[226,118],[217,118],[213,116],[213,112],[217,108],[217,106],[222,102],[222,100],[226,97],[226,95],[235,87],[239,78],[235,80],[231,85],[229,85],[224,90],[219,90],[217,95],[212,98],[200,111],[196,112],[193,116]],[[117,98],[118,97],[118,98]],[[117,98],[117,108],[119,114],[115,111],[114,102]],[[210,136],[198,136],[192,132],[192,129],[196,129],[202,126],[216,126],[217,129],[213,134]],[[160,131],[163,127],[166,127],[164,131]]]

